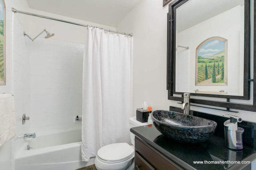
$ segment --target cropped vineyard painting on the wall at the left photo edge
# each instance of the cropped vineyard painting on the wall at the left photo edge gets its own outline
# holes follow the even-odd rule
[[[0,85],[5,85],[5,3],[0,0]]]

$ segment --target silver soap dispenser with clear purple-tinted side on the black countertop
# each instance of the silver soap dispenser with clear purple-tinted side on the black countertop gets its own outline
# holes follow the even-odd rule
[[[224,122],[225,146],[230,149],[243,149],[244,129],[237,124],[242,122],[242,118],[229,114],[223,114],[223,116],[230,118]]]

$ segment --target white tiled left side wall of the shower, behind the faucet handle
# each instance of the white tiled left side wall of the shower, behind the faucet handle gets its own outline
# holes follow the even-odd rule
[[[24,39],[23,27],[19,20],[12,16],[12,88],[14,95],[16,115],[16,135],[31,133],[30,121],[22,124],[22,115],[30,114],[30,75],[29,75],[29,39]],[[12,139],[12,165],[14,169],[13,156],[24,144],[23,139]],[[17,148],[17,149],[16,149]]]

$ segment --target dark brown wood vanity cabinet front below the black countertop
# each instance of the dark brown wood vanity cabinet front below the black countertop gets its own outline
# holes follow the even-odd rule
[[[164,157],[149,144],[135,136],[135,170],[178,170],[182,169]]]

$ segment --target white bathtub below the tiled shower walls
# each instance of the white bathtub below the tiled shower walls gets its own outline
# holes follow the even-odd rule
[[[81,130],[24,140],[26,144],[15,158],[15,170],[75,170],[94,164],[94,158],[82,162]],[[27,144],[33,149],[27,150]]]

